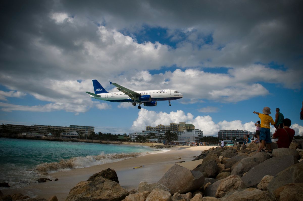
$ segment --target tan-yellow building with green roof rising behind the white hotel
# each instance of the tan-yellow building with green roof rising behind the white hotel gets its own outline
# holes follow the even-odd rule
[[[195,126],[193,124],[186,124],[185,122],[179,122],[179,124],[176,123],[170,123],[170,124],[159,124],[156,127],[147,126],[147,131],[168,131],[171,132],[183,132],[184,130],[195,130]]]

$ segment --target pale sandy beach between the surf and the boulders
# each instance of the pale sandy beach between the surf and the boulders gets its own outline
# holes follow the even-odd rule
[[[165,172],[178,161],[184,160],[186,163],[178,164],[190,170],[194,169],[198,164],[201,164],[201,160],[191,161],[193,160],[193,156],[198,156],[201,154],[201,151],[211,147],[213,146],[173,147],[165,153],[148,154],[114,163],[56,172],[50,174],[50,176],[58,178],[58,181],[34,183],[18,189],[6,188],[2,189],[2,193],[4,195],[13,195],[18,192],[30,197],[42,197],[45,199],[55,195],[61,201],[65,200],[69,190],[78,182],[86,181],[93,174],[107,168],[111,168],[117,172],[119,183],[122,187],[128,190],[137,189],[141,181],[148,183],[158,182]],[[181,159],[178,159],[180,157]],[[144,167],[134,169],[137,166]]]

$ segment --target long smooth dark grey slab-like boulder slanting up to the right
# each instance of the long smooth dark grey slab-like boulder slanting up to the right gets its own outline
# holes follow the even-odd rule
[[[272,157],[251,168],[242,180],[247,187],[257,187],[265,175],[275,176],[299,161],[293,156]]]

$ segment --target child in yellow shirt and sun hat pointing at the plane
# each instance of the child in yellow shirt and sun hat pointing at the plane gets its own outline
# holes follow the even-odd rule
[[[271,139],[270,139],[270,124],[273,125],[275,128],[277,128],[274,120],[272,119],[271,116],[269,116],[269,114],[271,114],[270,112],[270,108],[269,107],[264,107],[262,110],[262,113],[259,112],[255,112],[254,114],[258,114],[258,117],[261,119],[261,128],[260,128],[260,146],[258,149],[258,152],[260,151],[265,151],[265,146],[266,144],[268,144],[268,152],[271,152]]]

